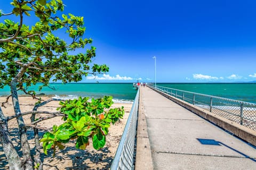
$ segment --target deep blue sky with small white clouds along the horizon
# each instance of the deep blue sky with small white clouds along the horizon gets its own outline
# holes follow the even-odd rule
[[[85,37],[97,48],[94,63],[110,67],[84,82],[154,82],[154,56],[157,82],[256,80],[254,0],[63,3],[64,13],[84,16]]]

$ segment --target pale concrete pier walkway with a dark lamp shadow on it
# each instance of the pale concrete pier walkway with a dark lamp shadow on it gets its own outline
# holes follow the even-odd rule
[[[135,170],[256,169],[256,149],[148,87],[140,88]]]

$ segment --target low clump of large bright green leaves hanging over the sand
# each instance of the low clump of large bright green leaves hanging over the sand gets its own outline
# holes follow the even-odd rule
[[[85,149],[92,138],[94,149],[105,146],[106,135],[111,123],[115,123],[124,115],[122,108],[110,108],[113,104],[112,97],[105,96],[99,99],[81,98],[60,102],[61,113],[65,116],[65,123],[53,126],[53,131],[46,132],[41,139],[44,153],[52,148],[63,149],[63,143],[76,140],[76,148]]]

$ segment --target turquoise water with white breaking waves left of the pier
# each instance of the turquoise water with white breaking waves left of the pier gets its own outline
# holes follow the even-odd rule
[[[132,83],[50,83],[50,88],[43,87],[41,91],[38,90],[39,85],[41,84],[32,86],[29,90],[61,99],[73,99],[78,96],[90,98],[113,96],[114,101],[118,103],[132,103],[137,93]],[[9,94],[9,87],[0,89],[0,96]],[[19,95],[22,94],[23,92],[19,92]]]

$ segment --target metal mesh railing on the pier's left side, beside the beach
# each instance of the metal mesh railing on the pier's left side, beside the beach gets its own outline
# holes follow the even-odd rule
[[[134,142],[137,131],[140,88],[133,101],[130,115],[127,119],[122,138],[119,142],[114,160],[110,169],[134,169]]]

